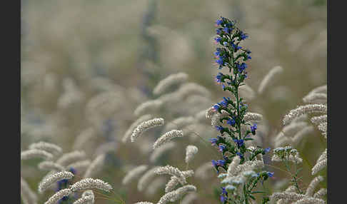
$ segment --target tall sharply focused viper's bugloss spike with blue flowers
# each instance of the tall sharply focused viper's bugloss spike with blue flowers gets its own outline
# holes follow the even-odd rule
[[[213,106],[214,111],[220,114],[215,128],[221,136],[211,138],[211,143],[221,152],[222,159],[212,160],[212,165],[219,173],[218,178],[226,177],[221,182],[227,184],[221,187],[221,203],[251,203],[250,199],[256,200],[254,194],[263,193],[261,190],[254,190],[258,182],[263,183],[272,177],[273,173],[253,171],[258,167],[256,162],[263,166],[262,155],[270,149],[246,148],[245,143],[253,140],[257,129],[255,123],[251,124],[245,120],[248,106],[238,94],[240,86],[244,85],[243,81],[247,78],[247,61],[251,59],[251,51],[241,46],[241,42],[247,39],[248,35],[238,29],[236,21],[224,17],[216,21],[216,26],[216,63],[219,69],[228,69],[228,74],[219,72],[216,81],[221,84],[223,91],[230,92],[234,99],[223,97],[221,102]],[[243,131],[245,127],[246,131]],[[260,155],[261,161],[256,160],[257,155]],[[236,157],[239,159],[235,160]],[[227,170],[228,173],[220,173],[221,169]],[[243,195],[234,193],[236,188],[240,189],[239,192]],[[265,197],[262,202],[268,203],[268,200]]]

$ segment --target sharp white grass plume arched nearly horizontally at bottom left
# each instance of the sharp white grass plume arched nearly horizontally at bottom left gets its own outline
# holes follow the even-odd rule
[[[113,188],[109,183],[106,183],[104,180],[94,179],[94,178],[84,178],[74,183],[74,185],[70,186],[70,189],[73,192],[79,190],[91,190],[93,188],[97,188],[99,190],[104,190],[106,192],[110,192]]]

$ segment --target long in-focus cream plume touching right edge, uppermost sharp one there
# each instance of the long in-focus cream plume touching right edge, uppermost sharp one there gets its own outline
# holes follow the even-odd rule
[[[293,118],[302,116],[305,113],[326,113],[327,107],[322,104],[308,104],[305,106],[298,106],[298,108],[289,111],[283,118],[283,125],[290,123]]]

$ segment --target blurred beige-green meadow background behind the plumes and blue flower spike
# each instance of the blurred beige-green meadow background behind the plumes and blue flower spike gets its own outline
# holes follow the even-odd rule
[[[159,114],[166,120],[196,113],[195,109],[186,111],[194,103],[201,106],[200,111],[211,107],[226,94],[214,81],[218,73],[213,58],[214,22],[219,16],[236,19],[249,36],[243,44],[252,51],[246,81],[254,90],[271,68],[283,67],[271,86],[248,103],[251,111],[261,111],[266,118],[264,147],[273,146],[271,138],[281,131],[283,116],[302,104],[309,91],[327,83],[326,1],[21,3],[21,149],[47,141],[66,153],[84,150],[90,158],[107,153],[104,169],[97,177],[111,183],[126,203],[155,202],[164,194],[165,183],[151,193],[136,190],[136,181],[121,185],[127,171],[148,163],[151,140],[124,144],[121,138],[138,118],[135,108],[156,98],[152,94],[156,83],[171,73],[185,72],[189,82],[211,93],[206,101],[193,98],[189,102],[193,105],[179,103]],[[76,138],[88,135],[86,131],[91,132],[92,139],[77,144]],[[146,136],[157,138],[160,132],[155,133]],[[217,133],[211,130],[205,134],[207,141]],[[185,167],[184,148],[189,142],[179,142],[184,145],[166,153],[156,165]],[[191,168],[213,159],[210,147],[198,141],[190,143],[199,147]],[[303,185],[313,178],[309,167],[325,148],[326,141],[317,130],[298,147],[308,161],[301,171]],[[21,175],[33,189],[46,174],[37,170],[38,162],[21,164]],[[286,176],[273,171],[277,176],[268,184],[270,190],[270,185]],[[194,202],[218,203],[214,194],[218,188],[216,175],[208,181],[192,179],[191,183],[198,188],[199,200]],[[51,194],[40,195],[41,202]],[[96,203],[113,201],[99,199]]]

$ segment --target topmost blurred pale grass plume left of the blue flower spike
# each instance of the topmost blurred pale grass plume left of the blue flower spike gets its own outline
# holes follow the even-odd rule
[[[171,86],[179,85],[181,83],[186,82],[188,79],[188,74],[180,72],[171,74],[163,80],[159,81],[159,83],[154,87],[153,93],[154,95],[159,95],[167,91]]]

